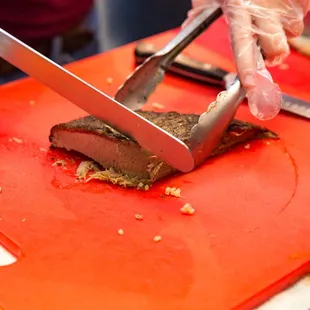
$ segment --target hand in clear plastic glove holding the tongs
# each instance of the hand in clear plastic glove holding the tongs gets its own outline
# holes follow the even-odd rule
[[[247,91],[250,110],[261,120],[271,119],[281,110],[282,95],[266,65],[279,65],[289,55],[287,39],[302,33],[310,0],[192,0],[193,9],[183,27],[202,10],[218,5],[229,26],[238,75]]]

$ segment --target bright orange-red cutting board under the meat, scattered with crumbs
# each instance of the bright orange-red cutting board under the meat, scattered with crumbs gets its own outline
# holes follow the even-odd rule
[[[68,68],[113,95],[135,67],[133,49]],[[233,69],[223,21],[187,53]],[[276,81],[310,100],[310,59],[293,52],[287,64]],[[201,113],[217,92],[167,76],[148,108]],[[240,146],[142,192],[75,183],[79,158],[48,150],[50,128],[82,115],[32,79],[0,88],[0,242],[18,256],[0,267],[4,310],[251,309],[309,271],[309,121],[281,113],[263,123],[280,141]],[[238,118],[259,123],[246,104]],[[183,197],[164,197],[166,186]],[[179,211],[187,202],[193,216]]]

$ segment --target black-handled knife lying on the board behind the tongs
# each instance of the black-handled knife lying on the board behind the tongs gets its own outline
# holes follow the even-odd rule
[[[135,59],[138,64],[158,51],[153,44],[140,42],[135,48]],[[179,54],[172,63],[170,71],[181,77],[186,77],[211,86],[228,88],[236,74],[223,70],[209,63]],[[310,119],[310,102],[282,93],[282,110]]]

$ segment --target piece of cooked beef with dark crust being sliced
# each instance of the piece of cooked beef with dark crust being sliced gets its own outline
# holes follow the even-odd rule
[[[141,116],[187,143],[199,115],[177,112],[138,111]],[[211,156],[228,151],[234,145],[258,138],[276,138],[266,128],[234,120],[222,142]],[[105,171],[98,178],[124,186],[150,185],[173,174],[175,169],[143,149],[115,129],[93,116],[86,116],[51,129],[52,147],[74,150],[99,163]],[[175,154],[177,156],[177,154]]]

